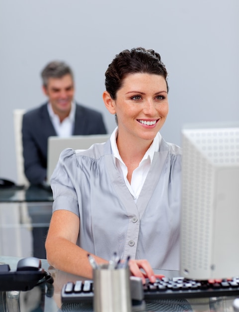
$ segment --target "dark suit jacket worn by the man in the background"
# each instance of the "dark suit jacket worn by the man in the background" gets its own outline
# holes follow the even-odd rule
[[[106,134],[102,114],[77,104],[73,134]],[[47,141],[48,137],[56,135],[48,114],[47,103],[23,115],[24,171],[31,184],[39,184],[46,179]]]

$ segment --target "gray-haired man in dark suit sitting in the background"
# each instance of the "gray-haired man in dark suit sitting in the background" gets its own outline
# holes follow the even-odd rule
[[[48,137],[106,134],[102,114],[75,102],[74,76],[66,63],[50,62],[41,76],[48,101],[22,120],[24,171],[31,184],[46,181]]]

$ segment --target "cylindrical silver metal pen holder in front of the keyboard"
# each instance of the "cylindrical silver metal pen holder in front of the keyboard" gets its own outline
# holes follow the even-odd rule
[[[94,312],[131,312],[129,268],[109,269],[101,265],[93,270]]]

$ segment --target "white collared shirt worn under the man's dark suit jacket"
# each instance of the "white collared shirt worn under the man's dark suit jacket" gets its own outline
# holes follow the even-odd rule
[[[53,112],[51,103],[47,105],[48,113],[53,124],[53,127],[56,131],[56,134],[59,137],[70,137],[73,135],[73,130],[75,126],[75,112],[76,112],[76,104],[72,102],[72,107],[70,114],[67,118],[65,118],[62,122],[57,114]]]

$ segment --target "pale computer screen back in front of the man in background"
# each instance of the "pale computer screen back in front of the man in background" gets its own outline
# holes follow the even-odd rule
[[[87,150],[94,143],[104,143],[110,135],[71,136],[67,138],[49,137],[47,148],[47,183],[56,167],[59,156],[64,149]]]

